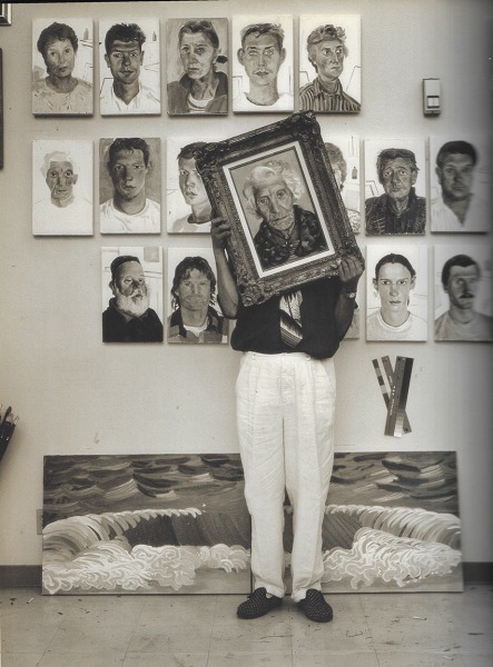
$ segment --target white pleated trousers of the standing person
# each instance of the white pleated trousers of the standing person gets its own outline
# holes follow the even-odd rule
[[[334,464],[335,371],[302,352],[245,352],[236,382],[239,451],[252,515],[255,588],[283,597],[284,499],[294,509],[295,601],[321,589],[322,522]]]

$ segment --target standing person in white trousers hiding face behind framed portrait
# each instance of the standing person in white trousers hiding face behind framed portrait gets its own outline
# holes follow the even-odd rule
[[[254,593],[237,616],[257,618],[283,601],[287,491],[294,509],[292,597],[307,618],[327,623],[333,610],[321,591],[322,522],[334,461],[333,357],[352,322],[364,266],[347,255],[338,276],[246,307],[225,249],[230,233],[227,220],[213,220],[218,302],[236,319],[231,347],[243,352],[236,405]]]

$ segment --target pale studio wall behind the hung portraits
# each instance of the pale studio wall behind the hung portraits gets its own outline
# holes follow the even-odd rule
[[[300,6],[272,0],[268,11],[288,11],[297,27]],[[307,8],[308,9],[308,8]],[[309,13],[362,16],[363,110],[319,116],[324,136],[366,138],[485,133],[491,126],[489,72],[493,4],[489,0],[312,0]],[[134,10],[134,11],[132,11]],[[31,20],[87,16],[167,18],[260,16],[265,2],[38,3],[14,4],[13,24],[0,28],[3,50],[4,168],[0,171],[0,402],[20,422],[0,464],[0,565],[41,563],[36,509],[42,505],[42,457],[57,454],[236,451],[234,381],[239,355],[226,346],[102,345],[100,248],[112,239],[34,238],[31,235],[31,141],[131,132],[234,136],[280,120],[276,115],[223,118],[34,118],[31,115]],[[296,37],[296,29],[295,29]],[[297,49],[297,41],[296,41]],[[161,50],[161,63],[165,49]],[[98,63],[96,62],[96,81]],[[161,68],[162,97],[166,68]],[[422,112],[422,79],[442,80],[443,112]],[[166,99],[165,99],[166,102]],[[166,109],[166,104],[164,104]],[[165,162],[165,160],[162,160]],[[96,161],[95,161],[96,165]],[[95,192],[98,170],[95,167]],[[162,172],[162,192],[166,192]],[[195,247],[208,238],[118,237],[120,245]],[[491,243],[491,236],[482,239]],[[430,247],[475,241],[451,237],[403,239]],[[358,236],[366,245],[392,242]],[[166,272],[166,271],[165,271]],[[165,285],[165,290],[169,289]],[[430,295],[433,290],[430,283]],[[428,303],[428,321],[433,318]],[[362,298],[362,307],[365,302]],[[492,345],[367,344],[344,341],[338,372],[337,448],[341,450],[456,450],[463,554],[469,563],[493,561]],[[385,406],[372,359],[414,358],[407,415],[413,432],[384,435]]]

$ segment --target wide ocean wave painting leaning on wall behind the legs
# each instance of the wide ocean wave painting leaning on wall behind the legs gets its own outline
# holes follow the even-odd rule
[[[46,594],[250,591],[239,455],[45,457],[43,496]],[[336,454],[324,590],[461,590],[460,545],[454,452]]]

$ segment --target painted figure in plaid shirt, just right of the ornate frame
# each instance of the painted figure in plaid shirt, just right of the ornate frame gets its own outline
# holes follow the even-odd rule
[[[378,153],[376,171],[384,193],[366,199],[366,233],[424,233],[426,199],[414,188],[420,171],[415,153],[386,148]]]

